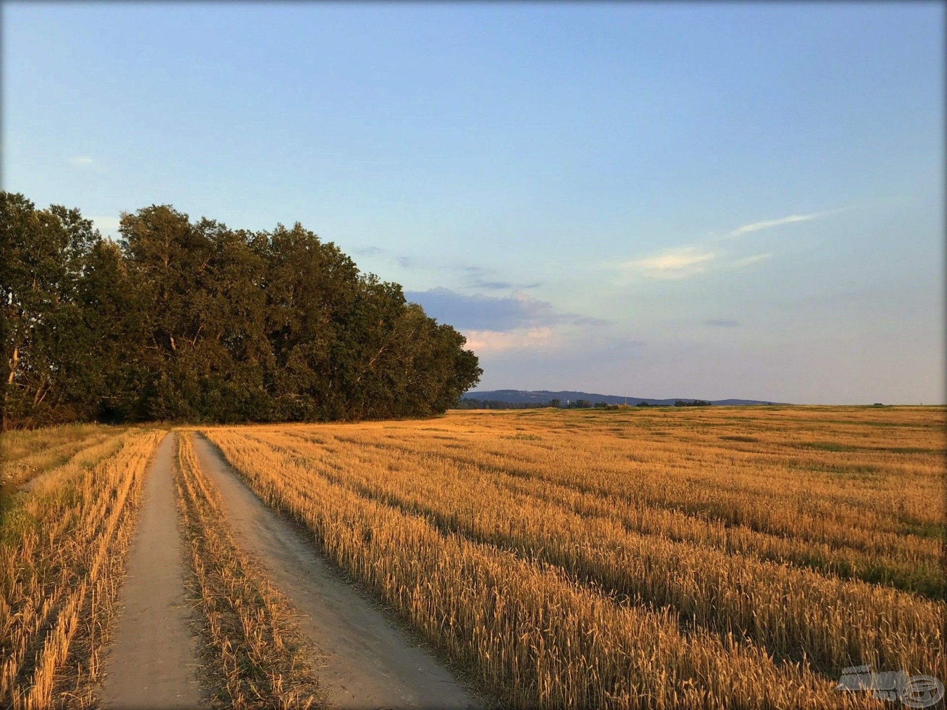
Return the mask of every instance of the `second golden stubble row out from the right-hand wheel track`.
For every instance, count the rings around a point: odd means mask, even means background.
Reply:
[[[471,468],[437,469],[371,447],[320,455],[317,445],[280,433],[246,435],[304,462],[315,475],[439,529],[544,560],[609,593],[670,606],[723,635],[745,634],[779,656],[805,656],[830,674],[860,663],[921,672],[943,660],[943,605],[937,602],[637,535],[615,521],[514,494]]]

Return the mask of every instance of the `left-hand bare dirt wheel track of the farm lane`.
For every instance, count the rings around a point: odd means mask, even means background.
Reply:
[[[188,626],[184,559],[174,505],[174,435],[158,446],[145,482],[138,529],[112,648],[105,660],[104,707],[194,708],[202,704],[196,643]]]

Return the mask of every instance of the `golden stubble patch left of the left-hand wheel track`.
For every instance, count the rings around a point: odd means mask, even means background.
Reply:
[[[95,705],[144,472],[163,435],[106,435],[0,511],[0,706]]]

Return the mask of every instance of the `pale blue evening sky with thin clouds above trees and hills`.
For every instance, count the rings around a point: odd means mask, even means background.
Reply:
[[[3,6],[3,182],[302,222],[481,389],[942,402],[944,9]]]

